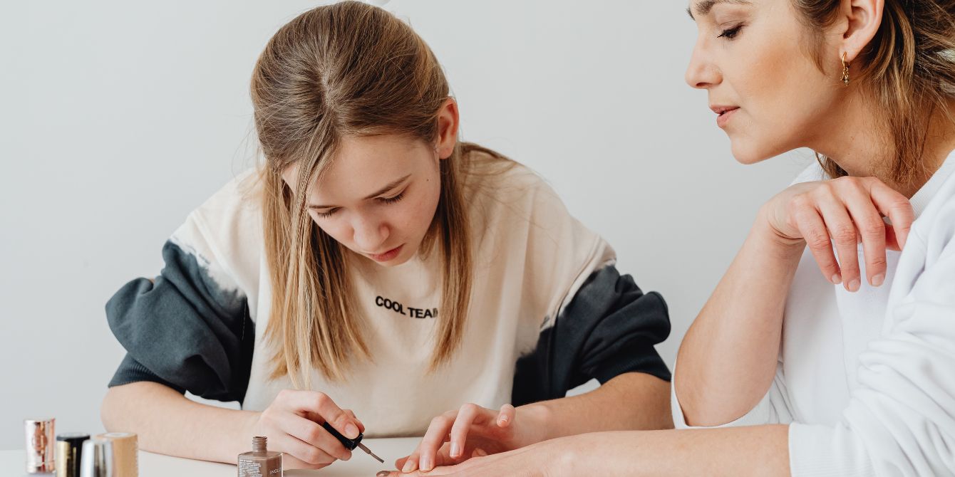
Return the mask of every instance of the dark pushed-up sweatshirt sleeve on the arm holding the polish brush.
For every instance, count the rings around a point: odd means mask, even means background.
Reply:
[[[110,386],[151,381],[205,399],[243,401],[252,369],[255,325],[245,297],[223,290],[208,262],[172,241],[155,283],[126,283],[106,317],[127,355]]]

